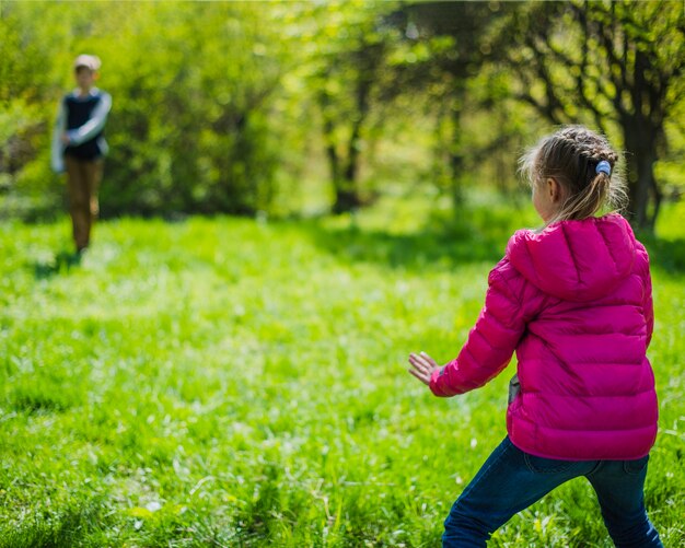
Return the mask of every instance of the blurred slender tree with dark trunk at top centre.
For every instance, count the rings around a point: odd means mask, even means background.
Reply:
[[[362,1],[300,7],[312,26],[306,80],[322,117],[325,155],[335,198],[333,211],[361,206],[360,163],[374,95],[396,32],[383,15],[394,3]]]

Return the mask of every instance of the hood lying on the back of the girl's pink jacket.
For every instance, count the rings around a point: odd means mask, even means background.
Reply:
[[[507,245],[507,258],[527,281],[578,302],[608,293],[630,273],[635,255],[632,229],[616,213],[560,221],[542,232],[521,230]]]

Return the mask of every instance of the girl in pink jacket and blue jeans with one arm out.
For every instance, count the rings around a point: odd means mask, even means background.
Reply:
[[[581,126],[542,139],[522,167],[545,228],[511,237],[455,360],[440,368],[425,352],[409,357],[409,372],[436,396],[454,396],[516,353],[508,436],[452,506],[445,547],[486,546],[511,516],[578,476],[594,488],[616,546],[662,546],[642,493],[658,417],[649,258],[623,217],[594,217],[625,197],[612,175],[617,160]]]

